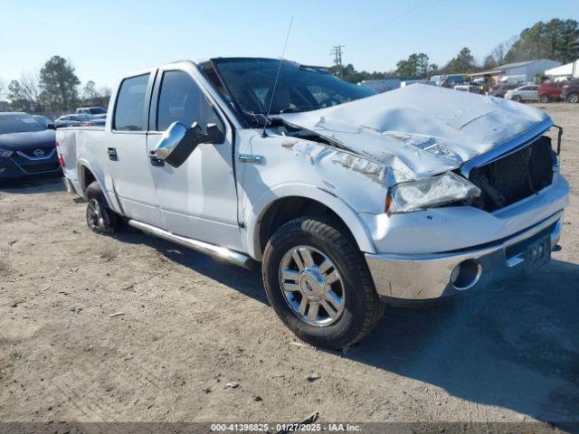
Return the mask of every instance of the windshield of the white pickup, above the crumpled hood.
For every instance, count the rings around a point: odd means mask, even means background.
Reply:
[[[339,80],[319,68],[282,61],[273,99],[271,93],[280,61],[274,59],[214,59],[226,92],[244,114],[309,111],[375,95],[375,90]]]

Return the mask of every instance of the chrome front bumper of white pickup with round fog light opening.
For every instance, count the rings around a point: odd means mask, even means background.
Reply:
[[[548,236],[549,247],[553,249],[561,236],[562,225],[563,211],[559,211],[524,231],[488,245],[439,253],[366,253],[365,259],[382,298],[425,300],[456,296],[479,291],[530,269],[529,245]],[[460,263],[474,267],[472,281],[452,284],[452,271]]]

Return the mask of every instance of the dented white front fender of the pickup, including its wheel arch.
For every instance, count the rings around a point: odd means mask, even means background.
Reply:
[[[259,163],[238,164],[242,222],[252,258],[261,259],[263,215],[284,197],[303,197],[326,205],[346,223],[360,250],[374,252],[359,212],[384,212],[384,165],[335,146],[268,133],[267,137],[258,134],[241,141],[247,146],[239,151],[244,158],[261,157]]]

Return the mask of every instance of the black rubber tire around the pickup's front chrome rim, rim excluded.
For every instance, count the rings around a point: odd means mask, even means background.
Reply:
[[[301,217],[287,222],[271,236],[262,263],[265,290],[281,321],[300,339],[329,348],[355,344],[380,322],[384,313],[384,304],[376,294],[362,254],[354,241],[340,231],[340,226],[318,217]],[[338,285],[343,287],[343,310],[329,325],[308,324],[292,310],[284,296],[280,283],[281,260],[298,246],[308,246],[323,253],[341,278]]]

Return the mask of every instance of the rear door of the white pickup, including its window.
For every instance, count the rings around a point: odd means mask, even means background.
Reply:
[[[155,71],[123,80],[110,117],[105,152],[109,170],[127,217],[162,226],[147,154],[147,120]]]

